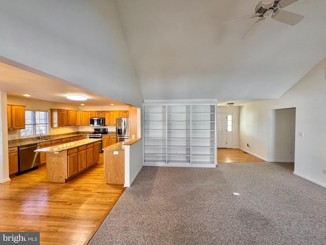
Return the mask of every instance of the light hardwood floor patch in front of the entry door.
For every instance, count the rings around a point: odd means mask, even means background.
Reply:
[[[218,148],[218,163],[226,162],[264,162],[264,160],[239,149]]]

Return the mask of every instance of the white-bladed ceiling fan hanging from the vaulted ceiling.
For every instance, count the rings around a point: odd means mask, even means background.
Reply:
[[[285,10],[281,10],[281,9],[283,9],[297,1],[298,0],[280,0],[280,1],[261,0],[261,2],[259,2],[257,4],[254,14],[227,20],[227,21],[222,22],[221,24],[224,24],[224,23],[227,23],[230,21],[237,21],[237,20],[258,17],[259,19],[253,24],[253,26],[248,30],[248,32],[243,35],[241,40],[250,37],[267,17],[270,17],[271,19],[275,19],[277,21],[283,22],[285,24],[289,24],[290,26],[294,26],[295,24],[297,24],[301,20],[303,20],[303,18],[305,16],[300,15],[300,14],[295,14],[292,12],[288,12]]]

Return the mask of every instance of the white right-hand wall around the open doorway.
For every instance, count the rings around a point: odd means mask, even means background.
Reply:
[[[267,159],[269,110],[296,108],[294,173],[326,187],[326,59],[295,84],[280,99],[259,101],[239,110],[239,148]],[[303,132],[304,137],[298,137]],[[250,148],[247,147],[250,143]]]

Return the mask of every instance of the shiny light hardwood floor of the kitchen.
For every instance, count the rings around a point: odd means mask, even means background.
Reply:
[[[42,245],[87,244],[123,193],[104,180],[103,154],[64,184],[49,183],[42,166],[0,184],[0,231],[40,232]]]

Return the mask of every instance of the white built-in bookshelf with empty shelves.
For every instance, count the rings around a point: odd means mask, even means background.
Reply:
[[[144,104],[144,165],[215,167],[216,104]]]

